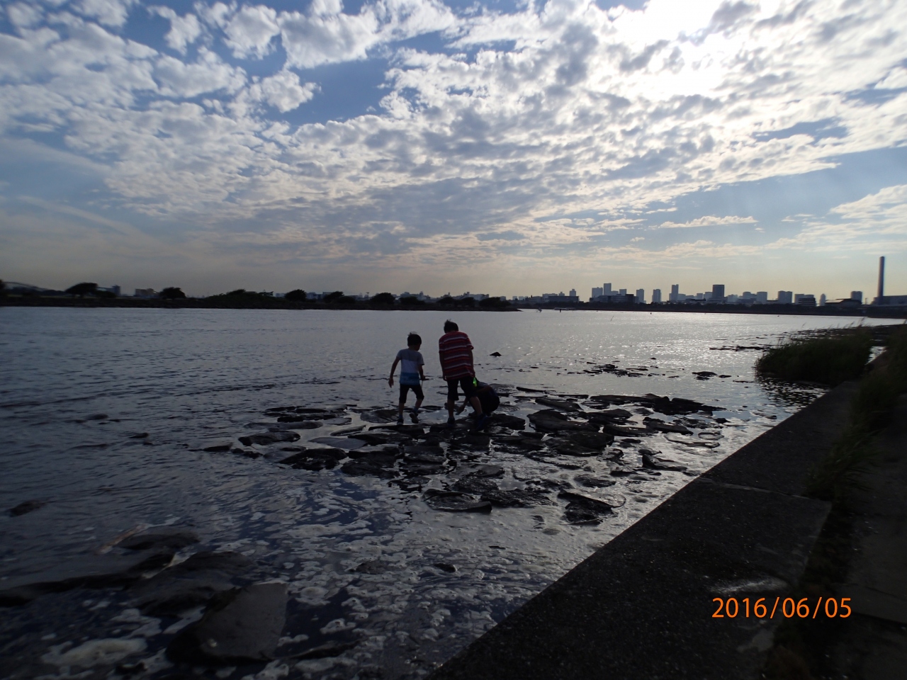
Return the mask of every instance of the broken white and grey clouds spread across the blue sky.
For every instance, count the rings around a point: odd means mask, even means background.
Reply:
[[[5,15],[0,134],[102,165],[103,190],[69,200],[174,226],[200,248],[355,262],[380,244],[369,257],[432,267],[749,256],[820,236],[823,248],[903,248],[902,186],[801,215],[760,243],[711,236],[755,227],[747,212],[639,223],[690,192],[907,141],[907,4],[896,0],[549,0],[508,12],[379,0],[356,13],[339,0],[294,11],[35,0]],[[363,94],[374,111],[295,117],[327,96],[319,79],[344,77],[328,67],[368,63],[384,73]],[[551,216],[562,219],[540,228]],[[697,227],[715,231],[687,242]],[[671,236],[629,246],[637,228]],[[622,246],[604,236],[617,231]]]

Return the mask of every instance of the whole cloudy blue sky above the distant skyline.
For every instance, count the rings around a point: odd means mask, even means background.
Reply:
[[[902,0],[0,4],[0,278],[907,294]]]

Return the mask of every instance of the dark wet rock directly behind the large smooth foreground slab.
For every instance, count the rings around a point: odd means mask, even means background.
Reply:
[[[175,617],[203,605],[217,593],[234,588],[234,578],[253,563],[236,552],[197,552],[130,588],[133,602],[144,614]]]

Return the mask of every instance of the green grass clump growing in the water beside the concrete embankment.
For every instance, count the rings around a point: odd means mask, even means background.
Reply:
[[[775,380],[834,387],[863,373],[872,347],[873,335],[864,328],[790,337],[759,357],[756,374]]]

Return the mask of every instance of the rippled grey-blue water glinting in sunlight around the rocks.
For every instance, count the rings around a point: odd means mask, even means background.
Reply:
[[[386,678],[419,677],[817,393],[766,391],[754,382],[756,351],[720,347],[766,345],[797,330],[849,322],[639,312],[454,315],[473,340],[479,377],[510,387],[506,413],[525,417],[544,408],[532,401],[541,395],[534,391],[684,397],[719,408],[694,423],[717,448],[690,446],[682,443],[690,438],[669,433],[622,444],[621,461],[533,458],[496,443],[491,451],[448,447],[444,470],[418,488],[349,476],[339,467],[288,469],[277,464],[289,455],[280,444],[244,447],[266,453],[256,459],[201,451],[262,431],[246,425],[273,423],[264,412],[281,406],[343,411],[333,424],[298,431],[302,440],[293,445],[374,425],[360,413],[394,405],[396,387],[386,378],[409,331],[424,338],[425,373],[432,378],[425,405],[440,406],[445,392],[436,341],[446,316],[0,308],[0,507],[47,503],[0,519],[0,588],[92,554],[138,525],[189,527],[205,548],[253,559],[256,580],[288,582],[285,635],[297,640],[285,648],[356,642],[339,656],[278,660],[217,677],[352,678],[375,676],[368,675],[375,668]],[[635,369],[635,376],[585,372],[601,364]],[[702,380],[694,375],[699,371],[727,377]],[[445,418],[426,413],[423,421]],[[634,413],[637,424],[642,418]],[[147,436],[133,438],[142,433]],[[687,470],[610,477],[616,466],[638,466],[642,446]],[[566,501],[556,496],[551,505],[490,514],[425,504],[425,489],[442,489],[479,463],[505,470],[502,489],[553,481],[625,502],[600,524],[581,526],[564,520]],[[580,475],[616,483],[581,488]],[[145,660],[133,676],[167,675],[162,648],[171,635],[161,630],[174,621],[137,616],[129,599],[128,593],[76,591],[46,596],[40,607],[6,610],[0,648],[17,660],[4,674],[63,676],[71,669],[55,659],[67,643],[130,638],[141,645],[133,645],[129,660]]]

